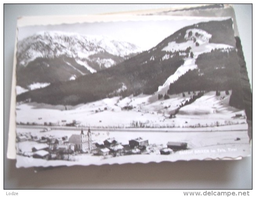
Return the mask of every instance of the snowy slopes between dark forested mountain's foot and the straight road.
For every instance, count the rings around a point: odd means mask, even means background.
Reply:
[[[231,92],[231,91],[230,91]],[[80,104],[65,110],[60,106],[50,108],[48,105],[36,103],[23,103],[17,106],[16,122],[35,122],[44,124],[49,122],[55,125],[81,122],[82,125],[98,128],[127,128],[134,126],[136,122],[144,127],[152,128],[204,128],[205,130],[222,130],[220,126],[228,125],[232,130],[234,125],[247,129],[246,117],[243,111],[228,105],[230,95],[221,92],[207,92],[190,105],[180,108],[176,117],[170,118],[182,103],[188,100],[185,93],[171,95],[169,99],[151,100],[149,95],[129,96],[126,98],[106,98],[87,104]],[[197,94],[197,92],[196,92]],[[230,93],[231,94],[231,93]],[[224,99],[223,96],[225,97]],[[40,107],[38,107],[40,106]],[[125,109],[130,106],[130,109]],[[241,114],[235,118],[236,114]],[[229,128],[225,128],[229,130]]]

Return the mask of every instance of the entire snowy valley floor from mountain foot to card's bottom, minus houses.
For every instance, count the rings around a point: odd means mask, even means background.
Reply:
[[[192,94],[192,93],[191,93]],[[197,94],[197,92],[196,92]],[[221,92],[206,92],[192,104],[179,109],[175,117],[170,118],[181,103],[191,95],[183,97],[171,95],[169,99],[158,100],[157,95],[139,95],[126,98],[106,98],[77,106],[52,106],[38,103],[23,103],[16,106],[16,121],[30,126],[17,126],[17,134],[31,133],[42,136],[68,138],[91,128],[93,142],[102,143],[107,138],[115,138],[122,145],[129,140],[141,137],[149,141],[148,154],[118,157],[93,156],[93,154],[71,155],[71,161],[42,160],[17,155],[17,167],[47,167],[59,165],[101,165],[114,163],[148,163],[178,160],[219,160],[238,159],[249,156],[250,145],[247,135],[248,125],[243,110],[229,106],[229,95]],[[224,98],[223,98],[224,97]],[[124,108],[130,106],[129,110]],[[65,107],[67,110],[65,110]],[[65,124],[79,122],[74,127]],[[52,126],[49,126],[51,122]],[[40,132],[46,126],[49,131]],[[37,125],[39,124],[39,125]],[[185,142],[188,149],[170,155],[160,155],[160,149],[167,142]],[[18,142],[20,153],[31,153],[37,142]]]

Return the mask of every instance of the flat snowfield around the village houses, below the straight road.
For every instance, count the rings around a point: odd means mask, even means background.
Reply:
[[[70,137],[79,134],[79,130],[51,130],[40,132],[41,129],[17,128],[17,133],[28,133],[42,137],[52,135],[54,137]],[[134,132],[134,131],[101,131],[92,129],[93,142],[103,142],[107,138],[114,137],[122,145],[128,144],[129,140],[142,137],[149,140],[149,145],[155,147],[150,154],[139,154],[119,157],[104,158],[92,154],[78,154],[71,156],[73,161],[42,160],[17,155],[17,167],[33,166],[57,166],[57,165],[101,165],[113,163],[147,163],[177,160],[209,160],[209,159],[238,159],[249,156],[250,146],[247,131],[212,131],[212,132]],[[237,140],[240,138],[240,140]],[[160,155],[160,149],[167,147],[169,141],[187,142],[188,150],[177,151],[170,155]],[[36,142],[18,142],[17,147],[22,151],[31,151]]]

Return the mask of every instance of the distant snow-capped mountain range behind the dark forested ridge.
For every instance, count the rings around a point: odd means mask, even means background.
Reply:
[[[65,32],[38,32],[18,42],[18,85],[52,83],[74,79],[114,66],[140,52],[140,48],[124,41],[103,36],[80,35]],[[40,77],[29,81],[27,72]],[[43,71],[43,72],[42,72]],[[49,76],[49,73],[54,75]],[[62,73],[62,76],[59,76]]]

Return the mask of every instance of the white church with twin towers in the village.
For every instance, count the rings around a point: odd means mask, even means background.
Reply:
[[[84,134],[84,130],[82,129],[80,135],[71,135],[69,143],[74,144],[74,151],[81,151],[83,153],[91,151],[92,139],[90,128],[88,129],[87,134]]]

